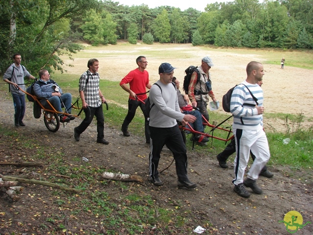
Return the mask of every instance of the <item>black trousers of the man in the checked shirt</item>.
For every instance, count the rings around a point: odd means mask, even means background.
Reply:
[[[84,109],[86,118],[80,123],[80,125],[76,128],[76,131],[78,134],[82,134],[87,127],[90,125],[93,116],[96,116],[97,119],[97,140],[102,140],[104,138],[104,115],[103,115],[103,108],[102,104],[97,107],[90,107],[90,113],[89,109]]]

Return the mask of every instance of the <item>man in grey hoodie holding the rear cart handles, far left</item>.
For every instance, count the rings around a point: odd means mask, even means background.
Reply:
[[[24,66],[21,65],[21,54],[16,53],[13,55],[14,63],[5,71],[3,81],[9,84],[9,90],[13,97],[13,104],[15,109],[14,124],[15,126],[25,126],[23,118],[25,115],[25,94],[20,91],[26,91],[24,85],[24,77],[35,79]]]

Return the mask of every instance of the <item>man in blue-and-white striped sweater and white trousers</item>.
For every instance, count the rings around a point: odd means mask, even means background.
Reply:
[[[263,90],[257,84],[263,79],[263,65],[251,61],[246,67],[246,74],[246,80],[235,87],[230,99],[236,142],[235,179],[232,182],[235,185],[234,191],[242,197],[250,196],[246,187],[251,188],[256,194],[262,194],[262,189],[256,185],[256,180],[270,157],[268,139],[262,126]],[[250,150],[255,154],[256,159],[244,180]]]

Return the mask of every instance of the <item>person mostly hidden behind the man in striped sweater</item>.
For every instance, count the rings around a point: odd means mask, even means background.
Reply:
[[[259,81],[257,82],[257,84],[261,87],[263,84],[263,81]],[[219,153],[216,156],[217,160],[219,161],[219,165],[222,168],[228,168],[226,161],[229,158],[229,156],[235,152],[236,152],[236,143],[235,143],[235,139],[233,138],[230,140],[230,143],[227,144],[224,151]],[[252,160],[254,161],[255,155],[251,151],[250,151],[250,155],[251,155]],[[259,175],[262,175],[267,178],[272,178],[274,176],[274,174],[268,170],[268,167],[266,165],[262,168]]]

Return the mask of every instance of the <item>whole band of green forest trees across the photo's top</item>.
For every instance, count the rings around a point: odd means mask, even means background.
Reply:
[[[0,71],[22,54],[28,71],[63,72],[60,55],[92,45],[192,43],[218,47],[313,48],[313,0],[235,0],[207,4],[204,12],[171,6],[123,5],[112,0],[0,2]]]

